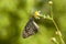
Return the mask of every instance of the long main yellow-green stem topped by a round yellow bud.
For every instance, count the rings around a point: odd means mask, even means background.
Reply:
[[[62,37],[62,33],[61,33],[61,31],[59,31],[59,29],[58,29],[55,20],[53,19],[52,4],[53,4],[53,2],[50,1],[50,14],[51,14],[52,21],[53,21],[53,23],[54,23],[54,25],[55,25],[55,28],[56,28],[56,30],[57,30],[57,34],[58,34],[58,36],[59,36],[61,43],[62,43],[62,44],[65,44],[65,42],[64,42],[64,40],[63,40],[63,37]]]

